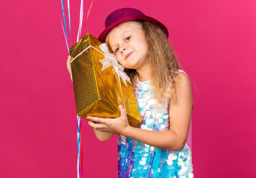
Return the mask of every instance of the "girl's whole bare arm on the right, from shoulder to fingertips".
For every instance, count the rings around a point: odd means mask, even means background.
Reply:
[[[126,111],[120,107],[121,116],[116,119],[102,119],[88,117],[97,124],[90,122],[89,125],[103,132],[113,132],[126,137],[139,140],[147,145],[180,151],[186,144],[193,106],[191,83],[186,74],[180,72],[176,77],[175,99],[170,102],[169,118],[170,130],[150,131],[128,125]]]

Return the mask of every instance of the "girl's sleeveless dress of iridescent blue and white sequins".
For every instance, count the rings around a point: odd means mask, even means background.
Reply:
[[[181,70],[180,70],[181,71]],[[162,131],[170,129],[168,104],[154,109],[150,80],[134,84],[134,92],[141,116],[137,127]],[[146,145],[132,138],[118,137],[118,175],[120,178],[193,178],[190,147],[171,151]]]

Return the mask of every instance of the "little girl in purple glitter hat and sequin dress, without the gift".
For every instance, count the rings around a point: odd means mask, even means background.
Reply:
[[[168,30],[133,8],[110,13],[105,25],[99,40],[129,69],[141,124],[131,127],[121,105],[119,118],[87,117],[97,122],[88,124],[100,141],[119,134],[119,177],[193,178],[186,142],[193,108],[191,83],[180,70]]]

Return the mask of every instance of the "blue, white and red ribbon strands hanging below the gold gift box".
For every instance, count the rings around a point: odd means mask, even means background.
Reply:
[[[77,178],[83,178],[83,142],[82,142],[82,122],[81,117],[77,116]]]

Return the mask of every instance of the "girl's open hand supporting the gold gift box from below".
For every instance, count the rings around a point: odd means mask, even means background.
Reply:
[[[90,119],[94,122],[88,121],[88,124],[96,130],[114,133],[120,135],[126,135],[130,131],[130,125],[127,120],[126,110],[122,105],[119,106],[121,111],[121,116],[119,118],[110,119],[110,118],[97,118],[88,116],[87,119]]]

